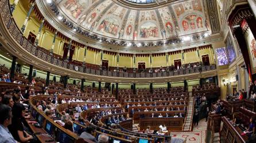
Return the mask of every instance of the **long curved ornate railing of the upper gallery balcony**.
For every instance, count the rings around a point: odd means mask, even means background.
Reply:
[[[15,41],[17,41],[24,49],[29,51],[29,53],[33,54],[34,56],[52,63],[53,65],[63,67],[65,69],[75,70],[77,72],[87,73],[87,74],[94,74],[98,76],[108,76],[108,77],[122,77],[122,78],[157,78],[157,77],[171,77],[171,76],[180,76],[184,74],[193,74],[193,73],[201,73],[207,72],[210,70],[215,70],[216,65],[210,66],[201,66],[195,67],[191,69],[181,69],[181,70],[174,70],[168,72],[159,72],[159,73],[119,73],[119,72],[110,72],[105,70],[96,70],[96,69],[88,69],[84,66],[73,65],[72,63],[68,63],[53,55],[46,53],[41,48],[33,45],[24,35],[21,33],[20,29],[16,25],[14,19],[11,17],[9,3],[8,1],[0,1],[0,8],[1,8],[1,16],[2,19],[9,30],[10,34],[13,36]]]

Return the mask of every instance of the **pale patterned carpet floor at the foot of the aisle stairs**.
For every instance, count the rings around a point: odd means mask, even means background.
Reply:
[[[170,136],[172,136],[172,143],[179,143],[179,139],[185,140],[187,138],[187,142],[189,143],[199,143],[205,142],[206,137],[206,129],[207,122],[205,119],[199,121],[198,126],[195,125],[193,128],[193,132],[171,132]]]

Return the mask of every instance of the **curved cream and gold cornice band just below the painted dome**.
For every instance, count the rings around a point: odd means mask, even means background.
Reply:
[[[187,41],[187,42],[184,41],[184,42],[178,42],[178,43],[173,42],[173,44],[169,44],[169,45],[164,44],[161,46],[133,47],[133,46],[120,46],[120,45],[108,44],[92,38],[88,38],[82,34],[79,34],[73,31],[73,29],[65,25],[63,22],[61,22],[57,18],[56,14],[52,12],[49,6],[46,6],[47,3],[45,1],[37,0],[36,2],[38,4],[37,5],[38,9],[42,13],[42,15],[44,15],[46,21],[50,25],[52,25],[57,31],[73,39],[74,41],[83,43],[84,45],[95,47],[96,49],[102,49],[102,50],[119,52],[119,53],[137,53],[137,54],[165,53],[168,51],[175,51],[175,50],[187,49],[187,48],[196,47],[196,46],[208,45],[208,44],[211,44],[212,42],[222,40],[220,35],[215,34],[215,35],[211,35],[210,37],[194,39],[193,41]],[[123,23],[123,25],[125,24]],[[200,34],[203,34],[203,33],[196,33],[196,35],[200,35]],[[152,41],[152,42],[157,42],[157,41]]]

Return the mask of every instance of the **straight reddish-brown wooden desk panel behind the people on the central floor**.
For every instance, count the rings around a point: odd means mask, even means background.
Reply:
[[[166,125],[167,130],[181,131],[183,127],[183,117],[176,118],[140,118],[139,126],[141,129],[147,129],[147,126],[151,126],[153,129],[160,129],[160,125]]]

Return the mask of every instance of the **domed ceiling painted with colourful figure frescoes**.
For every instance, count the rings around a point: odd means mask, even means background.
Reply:
[[[202,0],[55,0],[82,29],[125,41],[157,41],[209,31]],[[127,4],[128,3],[128,4]],[[129,4],[130,3],[130,4]],[[150,8],[139,6],[154,5]]]

